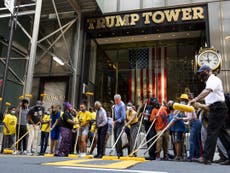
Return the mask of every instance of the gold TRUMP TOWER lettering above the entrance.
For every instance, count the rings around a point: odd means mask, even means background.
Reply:
[[[178,22],[189,20],[202,20],[205,18],[204,7],[178,8],[169,10],[147,11],[114,16],[104,16],[87,19],[88,29],[102,29],[124,26],[161,24],[164,22]],[[140,20],[140,18],[142,18]]]

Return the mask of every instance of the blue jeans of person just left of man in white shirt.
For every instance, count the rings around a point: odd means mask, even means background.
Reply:
[[[190,123],[190,137],[189,137],[189,158],[200,157],[200,147],[201,147],[201,122],[200,120],[194,120]]]

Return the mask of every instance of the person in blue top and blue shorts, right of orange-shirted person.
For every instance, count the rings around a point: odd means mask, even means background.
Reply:
[[[174,122],[169,128],[169,131],[171,132],[173,145],[175,146],[175,151],[176,151],[175,160],[181,161],[182,160],[182,142],[183,142],[184,133],[186,131],[186,127],[185,127],[184,121],[180,119],[183,117],[183,114],[181,113],[177,114],[177,111],[173,110],[172,101],[171,103],[168,103],[168,109],[170,110],[170,114],[168,117],[168,123],[170,123],[171,121],[174,121]]]

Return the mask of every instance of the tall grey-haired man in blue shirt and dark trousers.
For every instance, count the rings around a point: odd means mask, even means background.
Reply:
[[[114,102],[115,105],[113,107],[114,109],[113,128],[114,128],[114,140],[116,141],[124,127],[124,122],[126,119],[126,106],[124,102],[121,100],[121,96],[119,94],[116,94],[114,96]],[[123,156],[121,137],[116,144],[116,152],[118,157]]]

